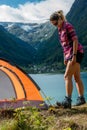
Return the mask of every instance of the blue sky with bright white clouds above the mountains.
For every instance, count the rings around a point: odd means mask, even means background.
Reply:
[[[41,23],[57,10],[66,15],[75,0],[0,0],[0,22]]]

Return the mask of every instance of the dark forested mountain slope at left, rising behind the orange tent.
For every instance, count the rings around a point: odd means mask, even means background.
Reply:
[[[26,66],[33,63],[34,55],[35,49],[31,45],[8,33],[0,25],[0,58]]]

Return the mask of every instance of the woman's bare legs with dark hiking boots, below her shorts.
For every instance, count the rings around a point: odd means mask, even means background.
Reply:
[[[71,96],[73,90],[72,76],[74,75],[76,81],[76,87],[80,97],[77,100],[76,105],[81,105],[85,103],[85,98],[83,97],[84,86],[80,78],[80,65],[79,63],[72,64],[71,61],[68,61],[64,79],[66,87],[66,97],[62,102],[64,108],[71,108]]]

